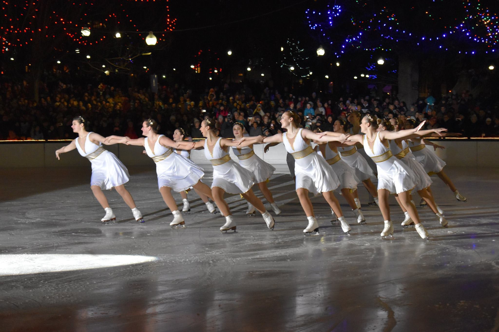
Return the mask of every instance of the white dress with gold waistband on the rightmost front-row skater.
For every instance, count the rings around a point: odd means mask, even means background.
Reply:
[[[376,133],[372,149],[366,135],[362,135],[362,141],[364,150],[378,169],[378,190],[386,189],[391,194],[400,194],[416,187],[418,184],[416,174],[392,154],[390,147],[381,143],[379,132]]]

